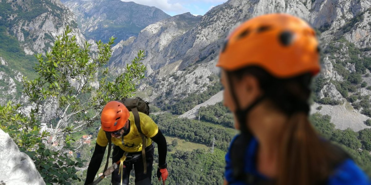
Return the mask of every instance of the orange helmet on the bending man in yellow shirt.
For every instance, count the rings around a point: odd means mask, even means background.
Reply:
[[[118,101],[108,102],[101,115],[101,124],[104,131],[113,132],[125,126],[129,118],[129,111],[124,104]]]

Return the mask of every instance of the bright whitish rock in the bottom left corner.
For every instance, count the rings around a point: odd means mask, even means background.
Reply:
[[[32,159],[20,152],[9,134],[0,129],[0,181],[6,185],[45,185]]]

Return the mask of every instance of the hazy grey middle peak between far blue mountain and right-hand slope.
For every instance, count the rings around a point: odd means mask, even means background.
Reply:
[[[147,69],[150,71],[172,63],[169,62],[169,60],[173,60],[171,56],[164,55],[168,52],[177,52],[179,48],[169,48],[168,46],[185,34],[200,19],[200,16],[184,13],[147,26],[139,33],[138,37],[131,37],[127,41],[121,41],[119,46],[115,46],[111,58],[112,64],[125,66],[137,55],[138,50],[143,49],[147,52],[147,56],[142,62],[147,65]],[[187,42],[183,42],[183,44],[187,44]],[[147,74],[150,73],[147,72]]]

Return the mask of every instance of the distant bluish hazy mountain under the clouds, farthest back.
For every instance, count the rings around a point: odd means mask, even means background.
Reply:
[[[120,0],[63,1],[78,17],[78,24],[88,39],[118,41],[137,36],[139,31],[171,16],[156,7]]]

